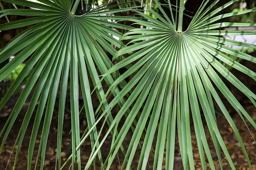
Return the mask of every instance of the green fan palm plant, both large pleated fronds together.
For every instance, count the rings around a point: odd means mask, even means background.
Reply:
[[[124,8],[119,8],[120,3],[113,1],[79,16],[75,15],[75,12],[81,0],[76,0],[74,3],[73,0],[1,1],[29,8],[4,9],[0,11],[0,17],[32,16],[0,25],[0,31],[31,26],[0,51],[0,62],[17,54],[0,69],[0,81],[25,60],[27,61],[1,99],[0,110],[29,74],[25,88],[0,133],[2,139],[0,152],[24,103],[29,94],[32,94],[15,142],[17,147],[13,150],[16,152],[13,169],[30,123],[33,123],[33,130],[28,147],[27,169],[33,168],[32,158],[40,122],[43,122],[43,128],[36,163],[41,159],[40,167],[44,168],[47,139],[58,91],[60,95],[56,136],[58,169],[63,168],[68,161],[71,162],[72,169],[87,170],[92,166],[96,168],[96,160],[99,161],[100,168],[110,169],[113,161],[122,154],[124,159],[120,162],[121,169],[129,170],[131,164],[135,162],[137,169],[146,170],[149,168],[148,158],[152,154],[153,170],[161,170],[163,164],[166,170],[172,170],[177,133],[183,168],[194,170],[190,130],[193,125],[202,169],[207,169],[208,162],[209,167],[215,170],[216,165],[203,125],[205,119],[220,168],[223,169],[221,156],[225,156],[230,168],[235,170],[236,167],[217,126],[216,107],[220,108],[229,122],[249,168],[253,169],[239,129],[221,98],[224,96],[227,99],[244,123],[247,119],[256,128],[256,123],[227,88],[224,79],[247,96],[255,107],[256,94],[223,65],[225,63],[241,71],[248,79],[256,81],[254,71],[229,56],[247,60],[252,65],[255,65],[256,58],[226,46],[256,49],[256,45],[222,37],[255,35],[256,31],[223,30],[224,27],[256,26],[252,23],[223,21],[227,17],[246,14],[255,9],[223,14],[222,10],[236,3],[237,0],[229,0],[218,8],[215,8],[215,5],[219,0],[212,3],[203,0],[188,28],[183,30],[183,0],[175,4],[170,0],[166,4],[160,4],[157,0],[146,1],[142,2],[142,5],[139,2],[138,6],[130,5]],[[151,8],[151,3],[158,7],[159,13]],[[168,13],[164,10],[166,8],[169,10]],[[116,15],[125,11],[134,14],[127,17]],[[150,15],[145,14],[146,11]],[[127,21],[132,24],[127,25]],[[112,61],[107,54],[111,55]],[[125,72],[119,72],[121,68],[125,68]],[[130,76],[132,78],[126,81]],[[90,88],[90,79],[93,82],[93,89]],[[108,85],[107,91],[103,91],[103,80]],[[72,153],[62,164],[61,139],[68,87],[70,87]],[[79,119],[82,119],[81,116],[79,117],[79,88],[81,88],[87,120],[87,130],[82,136],[79,126]],[[100,102],[96,111],[93,110],[92,92],[96,93]],[[113,95],[111,101],[108,100],[110,94]],[[116,105],[119,105],[120,109],[118,113],[113,114]],[[35,114],[33,120],[32,114]],[[106,133],[102,133],[105,124],[108,129]],[[132,131],[132,136],[128,147],[124,148],[123,141],[129,131]],[[102,158],[101,148],[108,136],[112,137],[110,150],[108,156]],[[91,148],[88,149],[90,157],[86,166],[81,167],[80,148],[88,138],[91,143]],[[154,141],[156,144],[153,144]],[[134,155],[138,154],[138,148],[140,156],[135,160]]]

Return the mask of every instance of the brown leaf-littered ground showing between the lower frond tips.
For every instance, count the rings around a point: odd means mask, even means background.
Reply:
[[[245,109],[250,113],[250,115],[253,117],[254,120],[256,120],[256,108],[253,105],[246,105],[244,106]],[[9,156],[10,153],[12,152],[12,147],[14,146],[16,137],[17,137],[17,133],[20,130],[20,126],[21,123],[23,121],[23,117],[24,117],[24,112],[21,112],[19,114],[19,116],[17,117],[17,123],[14,124],[14,126],[12,127],[12,130],[7,138],[6,144],[3,148],[3,151],[0,155],[0,170],[4,170],[6,168],[6,164],[9,160]],[[247,149],[247,152],[249,154],[249,158],[250,161],[252,163],[253,169],[256,169],[256,143],[253,140],[253,137],[250,135],[250,133],[247,130],[246,125],[244,124],[244,122],[241,120],[240,116],[238,114],[233,114],[233,121],[235,122],[236,126],[239,129],[239,133],[241,134],[241,138],[243,139],[244,145]],[[33,117],[32,117],[32,120]],[[2,129],[4,122],[6,122],[5,119],[1,118],[0,120],[0,129]],[[232,128],[230,127],[230,125],[228,124],[227,120],[225,119],[224,116],[221,115],[217,115],[217,122],[218,122],[218,127],[221,133],[221,136],[224,139],[224,142],[226,144],[226,147],[230,153],[231,158],[234,161],[234,164],[236,166],[237,170],[247,170],[249,169],[248,165],[247,165],[247,161],[243,155],[243,151],[241,150],[241,147],[239,145],[239,142],[235,136],[235,134],[233,133]],[[247,121],[246,121],[247,122]],[[211,142],[211,136],[209,134],[209,131],[207,130],[207,125],[206,122],[204,121],[204,125],[205,125],[205,131],[206,131],[206,136],[207,136],[207,140],[209,141],[209,147],[210,150],[212,152],[212,157],[215,163],[215,167],[218,170],[219,169],[219,162],[218,162],[218,158],[217,155],[215,153],[215,149],[214,146]],[[256,129],[253,128],[252,125],[250,125],[250,123],[247,122],[248,128],[250,129],[252,135],[254,137],[256,137]],[[32,131],[32,127],[33,127],[33,121],[29,124],[29,127],[27,129],[26,132],[26,136],[23,140],[23,144],[19,153],[19,157],[17,159],[17,165],[16,165],[16,170],[26,170],[26,164],[27,164],[27,148],[29,146],[29,140],[30,140],[30,135],[31,135],[31,131]],[[51,124],[51,128],[50,128],[50,132],[49,132],[49,138],[48,138],[48,143],[47,143],[47,152],[46,152],[46,158],[45,158],[45,162],[44,162],[44,169],[45,170],[54,170],[55,169],[55,156],[56,156],[56,142],[57,142],[57,127],[58,127],[58,116],[57,116],[57,112],[54,113],[54,116],[52,117],[52,124]],[[64,120],[64,129],[63,129],[63,145],[62,145],[62,153],[61,153],[61,157],[63,161],[66,161],[68,156],[70,155],[70,142],[71,142],[71,135],[70,133],[70,116],[68,113],[66,113],[65,115],[65,120]],[[81,122],[81,134],[83,133],[85,126],[83,125],[83,122]],[[193,151],[194,151],[194,162],[195,162],[195,167],[197,170],[201,170],[201,161],[200,161],[200,156],[198,153],[198,147],[197,147],[197,142],[196,142],[196,136],[195,136],[195,132],[194,132],[194,128],[191,125],[191,136],[192,136],[192,147],[193,147]],[[41,134],[41,133],[38,133]],[[123,145],[125,148],[128,147],[129,145],[129,140],[130,137],[132,135],[132,132],[128,133],[128,137],[125,139],[125,141],[123,142]],[[0,140],[2,141],[2,140]],[[33,157],[33,163],[35,163],[36,160],[36,153],[38,150],[38,146],[39,146],[39,142],[40,142],[40,135],[38,135],[38,139],[36,140],[36,145],[35,145],[35,156]],[[155,143],[156,141],[154,141]],[[109,145],[111,143],[111,137],[109,137],[106,141],[106,144],[104,145],[104,147],[102,147],[101,149],[101,153],[103,158],[108,156],[108,151],[109,151]],[[177,143],[177,136],[176,136],[176,143]],[[83,147],[81,148],[81,162],[82,162],[82,166],[84,167],[89,156],[90,156],[90,141],[86,141],[83,145]],[[122,153],[120,153],[120,162],[122,162]],[[222,154],[223,156],[224,154]],[[137,161],[139,160],[140,157],[140,148],[138,147],[137,153],[135,154],[135,158],[134,158],[134,164],[132,164],[132,169],[137,169]],[[11,159],[9,161],[9,165],[7,167],[7,170],[11,170],[13,163],[14,163],[14,159],[15,159],[15,150],[13,155],[11,156]],[[150,159],[148,161],[148,167],[147,169],[150,170],[153,166],[153,157],[150,156]],[[40,160],[39,160],[40,163]],[[222,163],[223,163],[223,168],[224,170],[229,170],[230,166],[226,160],[226,158],[223,156],[222,157]],[[38,164],[38,168],[39,168]],[[99,168],[99,164],[96,164],[96,167],[98,166],[98,168],[96,169],[100,169]],[[209,164],[207,163],[207,167],[209,168]],[[38,169],[37,168],[37,169]],[[64,169],[69,169],[69,165],[67,165]],[[92,168],[93,169],[93,168]],[[112,164],[111,167],[112,170],[118,170],[120,169],[120,165],[119,162],[117,161],[117,159],[115,160],[115,162]],[[164,165],[163,165],[163,170],[165,169]],[[182,166],[182,161],[181,161],[181,156],[180,156],[180,151],[179,151],[179,147],[175,146],[175,170],[182,170],[183,166]]]

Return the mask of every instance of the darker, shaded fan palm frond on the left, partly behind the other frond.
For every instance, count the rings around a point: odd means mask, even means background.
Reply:
[[[21,143],[29,124],[29,120],[37,105],[37,102],[39,101],[28,150],[28,169],[31,169],[32,155],[37,138],[38,128],[43,117],[44,108],[46,106],[44,125],[37,157],[38,160],[41,155],[41,168],[44,167],[44,156],[46,152],[50,122],[52,119],[59,83],[61,83],[57,144],[58,167],[60,168],[64,108],[67,87],[68,84],[70,84],[72,153],[73,155],[76,155],[72,157],[72,167],[74,168],[74,162],[75,159],[77,159],[78,168],[81,169],[80,151],[76,151],[76,147],[80,142],[78,101],[79,82],[81,83],[81,91],[84,98],[84,107],[86,111],[88,128],[91,129],[93,122],[95,122],[95,115],[93,111],[88,79],[91,78],[93,85],[97,87],[96,94],[99,101],[104,102],[103,110],[105,110],[108,103],[104,97],[105,93],[103,91],[102,84],[99,83],[99,75],[105,74],[108,71],[108,69],[111,67],[111,60],[105,54],[102,47],[105,48],[105,50],[110,54],[114,55],[116,53],[116,49],[113,48],[111,44],[120,48],[120,42],[113,38],[113,35],[120,38],[122,34],[113,28],[126,28],[123,26],[123,24],[117,23],[125,20],[126,17],[115,17],[106,14],[132,10],[133,8],[115,9],[113,7],[116,6],[112,6],[111,8],[113,9],[111,9],[110,7],[103,5],[82,16],[76,16],[73,13],[80,2],[79,0],[76,0],[72,10],[71,4],[73,3],[73,0],[38,0],[39,3],[30,2],[28,0],[3,1],[36,9],[6,9],[0,11],[0,13],[2,13],[0,17],[6,15],[35,16],[29,19],[18,20],[0,25],[0,31],[3,31],[34,24],[17,35],[0,51],[0,62],[3,62],[12,55],[18,53],[17,56],[12,59],[12,61],[10,61],[0,70],[0,81],[2,81],[18,65],[31,56],[27,61],[25,68],[22,70],[20,75],[17,77],[15,82],[13,82],[12,86],[1,100],[0,110],[6,104],[8,99],[11,97],[15,89],[18,87],[18,85],[20,85],[26,75],[32,71],[32,74],[30,75],[24,90],[17,100],[17,103],[13,108],[6,125],[0,133],[0,136],[4,134],[0,151],[3,149],[7,136],[15,123],[15,119],[23,107],[24,102],[31,93],[33,87],[35,87],[26,116],[24,117],[23,124],[15,142],[15,145],[16,143],[18,144],[15,164]],[[117,22],[112,23],[108,22],[107,20],[116,20]],[[100,72],[99,75],[96,68]],[[87,73],[90,75],[87,75]],[[115,74],[108,75],[105,77],[105,82],[111,85],[113,83],[113,77],[115,77]],[[125,85],[125,82],[122,82],[121,84]],[[116,96],[119,93],[118,88],[113,88],[112,93],[114,96]],[[119,105],[122,106],[123,104],[124,100],[120,100]],[[111,114],[109,114],[107,118],[108,124],[110,124],[112,120],[113,118]],[[98,135],[96,127],[93,127],[93,132],[90,133],[90,141],[92,146],[98,146],[98,144],[95,144],[97,137]],[[100,152],[98,153],[98,157],[102,163]]]

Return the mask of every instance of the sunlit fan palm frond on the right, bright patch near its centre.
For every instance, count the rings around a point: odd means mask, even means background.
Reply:
[[[256,24],[249,23],[223,23],[218,22],[220,19],[239,14],[245,14],[255,9],[249,9],[237,13],[221,14],[218,13],[224,8],[232,5],[236,0],[231,0],[229,3],[212,10],[212,7],[218,3],[215,0],[209,7],[206,7],[209,0],[204,0],[200,9],[195,14],[189,28],[182,31],[183,14],[180,12],[175,19],[172,13],[173,9],[170,6],[171,18],[169,18],[163,8],[155,0],[162,16],[157,14],[151,8],[147,8],[152,14],[157,17],[157,20],[138,12],[141,16],[145,17],[148,21],[137,20],[140,24],[148,28],[134,28],[127,33],[120,40],[130,40],[133,45],[127,45],[125,48],[120,49],[113,57],[116,59],[124,54],[134,52],[134,54],[123,59],[114,65],[104,75],[108,75],[124,67],[125,65],[137,61],[128,71],[122,74],[115,82],[114,85],[121,82],[125,77],[133,74],[135,70],[139,70],[125,88],[120,91],[119,96],[109,103],[108,108],[111,109],[119,101],[119,97],[125,96],[128,91],[134,88],[131,96],[125,102],[115,119],[113,120],[108,133],[111,129],[119,123],[125,111],[131,107],[131,112],[125,122],[122,122],[122,129],[119,135],[111,146],[111,151],[106,160],[108,168],[110,167],[128,129],[131,127],[133,120],[137,115],[140,115],[138,124],[134,130],[131,138],[130,145],[125,155],[122,169],[130,169],[134,154],[140,144],[143,129],[146,128],[145,139],[140,153],[137,169],[147,169],[148,157],[153,145],[154,134],[157,129],[157,143],[154,152],[154,169],[161,169],[163,164],[164,153],[166,152],[166,169],[172,170],[174,167],[174,148],[175,148],[175,130],[177,126],[180,153],[183,161],[184,169],[195,169],[193,161],[193,152],[191,144],[191,131],[190,131],[190,113],[192,113],[193,125],[195,127],[195,134],[198,142],[198,150],[202,168],[206,170],[206,153],[207,160],[211,169],[215,169],[209,145],[204,131],[200,107],[204,113],[207,126],[214,143],[216,153],[218,155],[219,163],[221,166],[221,149],[230,164],[231,169],[235,170],[233,161],[225,147],[224,141],[217,127],[217,120],[215,117],[215,110],[213,101],[215,101],[222,113],[233,128],[234,133],[241,145],[244,156],[247,159],[250,169],[250,159],[248,158],[247,151],[239,135],[239,131],[225,108],[220,96],[216,89],[218,89],[225,98],[230,102],[233,108],[244,120],[244,117],[256,127],[256,123],[249,116],[247,111],[239,104],[238,100],[230,92],[224,84],[221,77],[224,77],[233,85],[243,92],[256,106],[256,95],[253,94],[242,82],[239,81],[220,61],[230,65],[245,75],[256,80],[256,73],[244,67],[236,60],[228,56],[234,55],[241,59],[248,60],[256,63],[256,58],[240,51],[236,51],[225,45],[244,46],[256,49],[255,45],[244,42],[237,42],[228,40],[222,35],[255,35],[255,31],[219,31],[215,28],[226,26],[256,26]],[[177,11],[177,9],[176,9]],[[180,11],[183,11],[183,0],[180,0]],[[176,15],[177,16],[177,15]],[[176,28],[177,31],[176,31]],[[221,77],[220,77],[221,75]],[[140,108],[143,108],[140,112]],[[106,111],[102,114],[102,116]],[[148,122],[148,124],[147,124]],[[96,122],[97,123],[97,122]],[[245,123],[245,121],[244,121]],[[159,127],[157,128],[157,125]],[[106,136],[108,135],[106,134]],[[105,136],[105,137],[106,137]],[[102,140],[100,146],[104,142]],[[97,150],[96,150],[97,151]],[[96,156],[95,152],[92,154],[91,160]],[[222,169],[222,166],[221,166]]]

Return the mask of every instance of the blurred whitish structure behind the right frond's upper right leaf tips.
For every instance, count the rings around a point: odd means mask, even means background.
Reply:
[[[228,28],[225,28],[225,30],[256,31],[256,27],[228,27]],[[230,40],[236,40],[236,41],[246,42],[249,44],[256,45],[256,35],[234,35],[234,36],[223,36],[223,37]],[[234,45],[227,45],[227,46],[237,50],[246,49],[246,47],[240,47],[240,46],[234,46]]]

